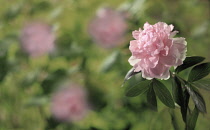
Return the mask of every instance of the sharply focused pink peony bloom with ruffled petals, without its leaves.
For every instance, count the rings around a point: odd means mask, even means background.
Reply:
[[[178,31],[172,31],[173,25],[158,22],[144,24],[144,30],[133,31],[136,40],[130,41],[132,56],[129,63],[135,72],[142,71],[146,79],[168,79],[172,66],[183,64],[186,57],[185,38],[173,38]]]

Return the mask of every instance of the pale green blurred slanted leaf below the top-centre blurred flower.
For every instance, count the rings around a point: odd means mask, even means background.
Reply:
[[[101,72],[107,72],[109,71],[112,66],[117,62],[118,58],[120,56],[119,51],[114,51],[111,55],[109,55],[101,66]]]

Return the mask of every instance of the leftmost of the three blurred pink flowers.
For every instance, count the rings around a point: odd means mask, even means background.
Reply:
[[[36,57],[53,51],[55,35],[49,25],[34,22],[22,29],[20,40],[23,50]]]

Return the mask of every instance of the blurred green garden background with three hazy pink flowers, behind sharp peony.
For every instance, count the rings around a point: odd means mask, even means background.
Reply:
[[[210,61],[208,0],[0,0],[0,130],[184,129],[179,109],[124,96],[132,30],[173,24]],[[188,72],[183,72],[186,76]],[[171,85],[167,84],[168,89]],[[210,94],[200,90],[210,128]]]

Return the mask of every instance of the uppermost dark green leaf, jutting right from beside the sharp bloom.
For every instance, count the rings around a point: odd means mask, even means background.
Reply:
[[[202,62],[205,58],[201,57],[201,56],[192,56],[192,57],[186,57],[186,59],[184,60],[183,64],[178,66],[176,68],[176,72],[179,73],[182,70],[185,70],[193,65],[196,65],[200,62]]]

